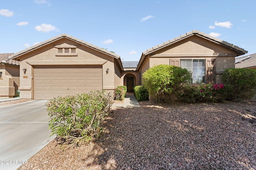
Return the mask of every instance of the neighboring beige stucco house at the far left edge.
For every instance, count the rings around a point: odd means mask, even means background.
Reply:
[[[0,98],[17,96],[20,86],[19,61],[9,59],[13,53],[0,54]]]

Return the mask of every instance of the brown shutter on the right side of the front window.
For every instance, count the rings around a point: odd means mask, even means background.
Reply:
[[[205,67],[206,67],[206,72],[205,72],[206,84],[208,84],[208,83],[214,84],[216,82],[215,81],[216,59],[206,59],[205,62],[206,62],[206,64],[205,64]]]

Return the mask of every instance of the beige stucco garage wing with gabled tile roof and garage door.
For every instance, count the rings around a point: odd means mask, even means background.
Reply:
[[[48,100],[121,85],[120,56],[66,34],[9,58],[20,61],[20,98]]]

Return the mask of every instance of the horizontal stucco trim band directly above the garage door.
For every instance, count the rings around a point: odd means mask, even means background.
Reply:
[[[36,65],[103,65],[107,61],[92,60],[92,61],[26,61],[26,63]]]

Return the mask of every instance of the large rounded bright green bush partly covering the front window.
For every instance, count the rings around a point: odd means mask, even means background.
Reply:
[[[182,84],[190,81],[190,72],[178,66],[160,64],[142,75],[142,82],[150,96],[157,101],[169,102],[179,94]]]

